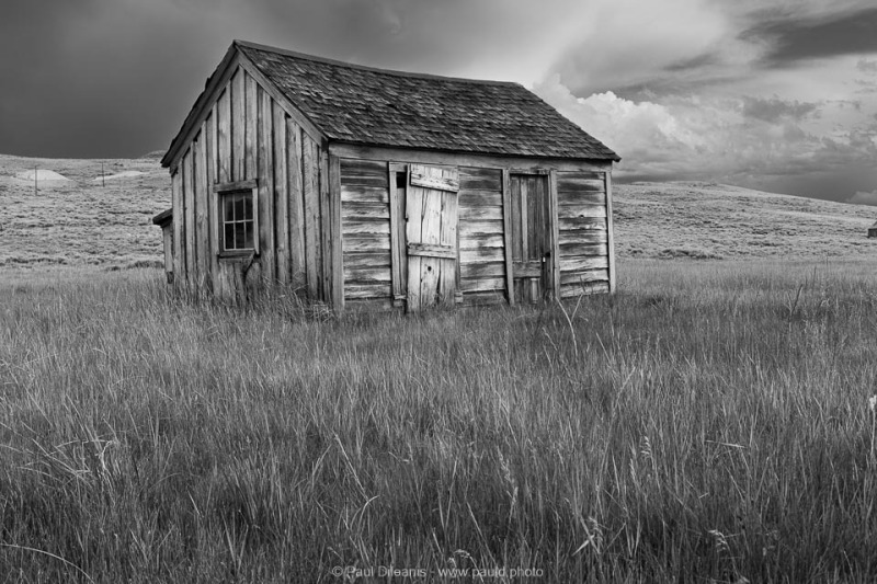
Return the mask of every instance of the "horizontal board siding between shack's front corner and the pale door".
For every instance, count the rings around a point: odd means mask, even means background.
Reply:
[[[344,298],[384,306],[392,299],[387,163],[342,158],[340,175]]]

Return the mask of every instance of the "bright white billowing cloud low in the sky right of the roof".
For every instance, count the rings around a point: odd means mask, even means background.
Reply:
[[[802,108],[772,98],[758,102],[753,113],[753,100],[747,98],[664,96],[663,103],[635,102],[613,92],[578,98],[558,76],[534,90],[623,158],[620,178],[731,182],[877,157],[875,127],[835,129],[824,137],[808,131],[807,119],[818,118],[824,104]]]

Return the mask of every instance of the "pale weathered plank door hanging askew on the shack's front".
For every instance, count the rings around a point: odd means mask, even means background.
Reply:
[[[456,169],[411,164],[406,198],[408,311],[453,302],[457,289]]]

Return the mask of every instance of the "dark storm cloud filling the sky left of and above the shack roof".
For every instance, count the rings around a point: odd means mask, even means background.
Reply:
[[[0,153],[167,148],[235,38],[454,75],[508,43],[501,4],[512,32],[538,11],[523,0],[3,0]]]

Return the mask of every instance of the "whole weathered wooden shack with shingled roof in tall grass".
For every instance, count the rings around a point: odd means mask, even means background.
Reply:
[[[335,309],[612,291],[617,160],[516,83],[236,41],[161,160],[168,270]]]

